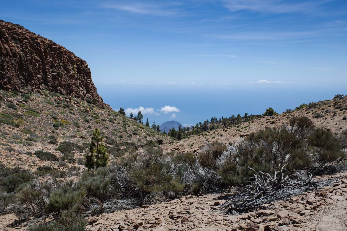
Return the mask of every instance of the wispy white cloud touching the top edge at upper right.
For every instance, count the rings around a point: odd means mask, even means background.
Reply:
[[[230,11],[249,10],[270,13],[309,13],[331,0],[283,1],[283,0],[222,0]]]

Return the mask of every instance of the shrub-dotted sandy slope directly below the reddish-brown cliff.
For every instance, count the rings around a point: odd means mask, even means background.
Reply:
[[[102,109],[80,99],[46,91],[16,95],[0,90],[0,156],[5,166],[32,171],[44,165],[84,168],[78,158],[84,160],[94,128],[104,135],[111,160],[150,140],[170,140],[110,108]],[[66,142],[70,151],[58,151],[59,145]],[[50,152],[57,158],[45,160],[36,151]]]

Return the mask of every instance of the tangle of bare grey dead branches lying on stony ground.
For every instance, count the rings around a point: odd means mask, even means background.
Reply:
[[[305,176],[303,172],[286,176],[284,167],[282,167],[281,171],[275,172],[273,177],[268,173],[257,172],[248,167],[254,171],[253,180],[249,179],[246,182],[246,184],[249,183],[248,185],[236,188],[221,208],[226,209],[228,213],[235,214],[250,212],[263,204],[288,199],[338,182],[338,178],[314,181],[312,174]]]

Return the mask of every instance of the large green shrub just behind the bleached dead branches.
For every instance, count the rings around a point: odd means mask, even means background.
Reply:
[[[340,140],[327,130],[314,128],[307,117],[293,117],[289,123],[290,127],[251,133],[238,144],[219,170],[225,183],[240,185],[253,176],[253,170],[274,174],[285,168],[294,174],[344,157]]]

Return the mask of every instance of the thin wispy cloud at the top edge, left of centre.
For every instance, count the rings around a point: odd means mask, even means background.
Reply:
[[[180,3],[169,2],[165,4],[156,3],[124,3],[124,4],[104,4],[104,8],[127,11],[134,14],[154,15],[154,16],[173,16],[177,15],[177,6]]]

